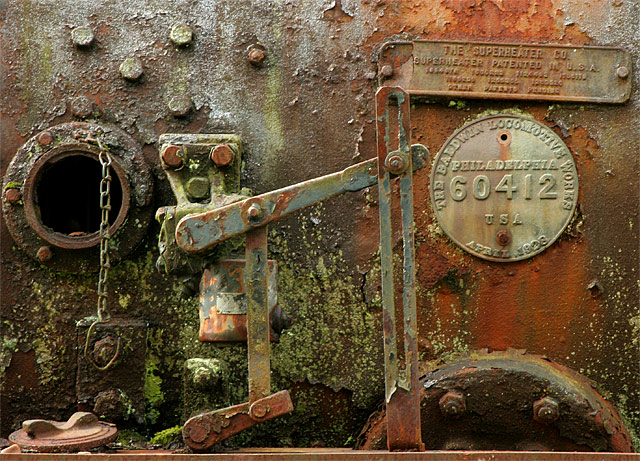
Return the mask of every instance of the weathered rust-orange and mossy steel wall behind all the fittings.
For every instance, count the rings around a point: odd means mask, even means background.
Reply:
[[[158,137],[234,133],[244,145],[243,186],[261,193],[376,155],[376,56],[385,39],[612,45],[631,52],[638,68],[639,15],[637,2],[622,0],[4,1],[0,170],[4,175],[20,146],[47,127],[74,120],[112,125],[139,143],[154,176],[153,206],[160,207],[174,199]],[[186,47],[169,39],[181,22],[194,31]],[[74,46],[78,26],[92,28],[89,47]],[[262,66],[248,60],[256,43],[266,50]],[[137,81],[119,72],[130,57],[144,69]],[[637,73],[633,78],[622,105],[412,106],[413,142],[433,155],[480,114],[532,115],[567,144],[580,180],[578,212],[559,241],[532,259],[500,264],[474,258],[443,235],[429,204],[429,168],[416,174],[425,369],[482,348],[546,354],[593,379],[638,431],[640,103]],[[176,96],[192,101],[187,115],[169,109]],[[274,390],[291,389],[297,409],[234,443],[343,445],[381,401],[375,197],[375,188],[338,197],[272,226],[280,304],[294,318],[273,346]],[[4,221],[0,232],[6,437],[24,419],[66,419],[75,410],[76,322],[95,313],[97,277],[52,271],[18,248]],[[247,392],[246,348],[197,341],[196,298],[155,270],[157,232],[152,223],[138,249],[114,267],[108,303],[114,317],[148,322],[146,378],[129,385],[144,388],[151,431],[183,422],[186,359],[223,359],[231,402],[245,401]],[[139,404],[122,418],[141,421]]]

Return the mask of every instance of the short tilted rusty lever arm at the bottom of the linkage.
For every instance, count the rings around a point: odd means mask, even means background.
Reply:
[[[292,411],[289,391],[280,391],[253,404],[241,403],[194,416],[183,426],[182,437],[195,451],[204,451],[258,423]]]

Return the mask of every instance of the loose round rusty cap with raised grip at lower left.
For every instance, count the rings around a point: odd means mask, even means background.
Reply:
[[[77,412],[66,422],[25,421],[22,429],[12,433],[9,440],[23,450],[60,453],[101,447],[113,442],[117,435],[114,424],[98,421],[92,413]]]

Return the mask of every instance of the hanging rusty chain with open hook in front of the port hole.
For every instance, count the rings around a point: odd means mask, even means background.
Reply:
[[[109,152],[104,148],[100,138],[97,138],[98,147],[100,153],[98,154],[98,160],[102,166],[102,180],[100,181],[100,273],[98,275],[98,305],[97,316],[98,319],[91,324],[89,331],[87,331],[87,339],[84,344],[84,357],[95,368],[100,371],[105,371],[111,368],[118,355],[120,354],[120,338],[118,338],[118,344],[116,346],[116,352],[105,366],[101,367],[93,359],[89,357],[89,343],[91,335],[95,326],[105,321],[105,313],[107,320],[109,319],[109,313],[106,311],[105,306],[107,304],[107,280],[109,278],[109,269],[111,264],[109,262],[109,212],[111,211],[111,156]]]

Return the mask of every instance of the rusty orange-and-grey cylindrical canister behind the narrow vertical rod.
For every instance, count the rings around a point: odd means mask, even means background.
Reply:
[[[247,340],[247,294],[244,259],[224,259],[207,267],[200,281],[200,341]],[[277,261],[268,263],[267,294],[271,341],[291,320],[278,305]]]

